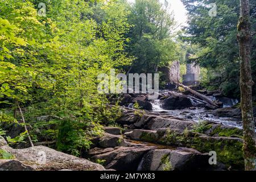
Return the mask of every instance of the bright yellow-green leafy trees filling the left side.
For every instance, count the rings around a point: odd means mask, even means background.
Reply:
[[[46,3],[46,17],[35,9],[40,2]],[[34,141],[56,140],[58,150],[79,156],[90,138],[101,134],[101,124],[113,124],[120,114],[117,107],[106,107],[97,76],[119,72],[133,60],[124,51],[131,27],[127,5],[83,0],[1,0],[0,5],[1,108],[15,113],[18,102]],[[1,122],[15,120],[0,114]],[[41,116],[47,119],[38,120]]]

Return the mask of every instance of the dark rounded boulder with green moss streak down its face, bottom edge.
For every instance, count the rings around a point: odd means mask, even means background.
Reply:
[[[209,167],[209,156],[178,150],[156,149],[148,151],[139,164],[139,171],[194,171]]]

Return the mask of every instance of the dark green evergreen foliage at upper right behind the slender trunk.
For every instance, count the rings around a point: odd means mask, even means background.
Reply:
[[[188,26],[186,35],[181,36],[185,42],[191,43],[193,56],[201,67],[214,73],[213,77],[204,78],[206,88],[221,89],[226,96],[240,98],[240,72],[239,50],[237,42],[237,22],[240,15],[239,1],[208,1],[208,0],[182,0],[188,11]],[[210,3],[216,3],[217,16],[209,16]],[[255,30],[256,1],[250,1],[251,30]],[[256,37],[251,38],[251,48],[256,47]],[[252,51],[251,65],[253,80],[256,81],[256,53]],[[255,94],[255,85],[254,92]]]

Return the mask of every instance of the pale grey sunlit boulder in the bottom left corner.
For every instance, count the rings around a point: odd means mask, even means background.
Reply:
[[[104,171],[100,164],[73,155],[64,154],[44,146],[36,146],[24,149],[14,149],[7,146],[5,140],[0,137],[0,150],[5,150],[14,156],[15,161],[0,160],[2,170],[43,170],[58,171],[70,169],[75,171]]]

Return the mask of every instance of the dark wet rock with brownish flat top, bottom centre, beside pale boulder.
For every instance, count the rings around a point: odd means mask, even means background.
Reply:
[[[155,148],[155,146],[119,147],[114,151],[93,156],[92,159],[105,160],[104,166],[106,169],[136,171],[143,155]]]

